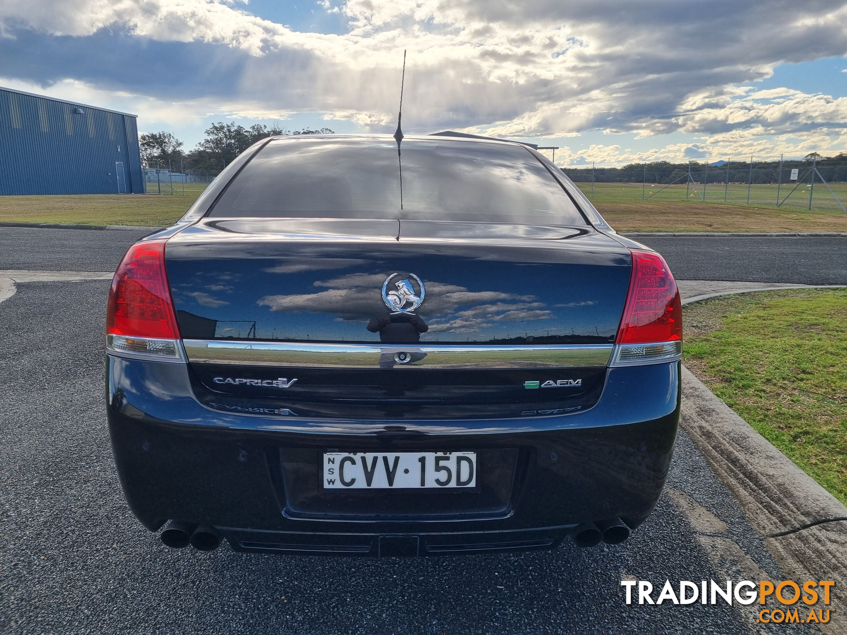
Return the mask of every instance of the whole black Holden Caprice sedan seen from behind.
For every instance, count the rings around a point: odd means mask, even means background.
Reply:
[[[617,543],[678,425],[667,264],[508,141],[261,141],[130,247],[106,339],[121,483],[171,547]]]

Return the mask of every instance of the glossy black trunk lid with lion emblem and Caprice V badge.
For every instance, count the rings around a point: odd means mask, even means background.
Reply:
[[[587,228],[385,219],[208,220],[166,263],[208,405],[367,419],[590,407],[630,273]]]

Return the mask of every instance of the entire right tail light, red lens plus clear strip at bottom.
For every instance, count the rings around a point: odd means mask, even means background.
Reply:
[[[683,310],[665,259],[632,251],[633,268],[613,364],[667,362],[682,355]]]

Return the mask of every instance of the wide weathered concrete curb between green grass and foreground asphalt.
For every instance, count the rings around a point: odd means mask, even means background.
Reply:
[[[787,579],[835,580],[835,588],[844,588],[847,507],[686,367],[682,384],[680,426],[739,501],[747,522],[764,538]],[[847,624],[844,616],[838,621]]]

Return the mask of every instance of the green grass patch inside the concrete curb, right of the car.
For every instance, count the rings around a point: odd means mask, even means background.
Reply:
[[[847,290],[715,298],[684,323],[686,366],[847,503]]]

